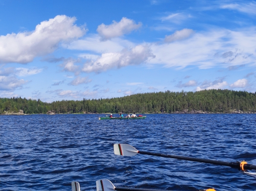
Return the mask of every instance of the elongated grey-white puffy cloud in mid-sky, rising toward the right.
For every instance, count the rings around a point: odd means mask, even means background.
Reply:
[[[95,61],[85,63],[82,71],[101,72],[111,68],[121,68],[128,65],[145,63],[149,58],[154,58],[148,45],[138,45],[131,50],[124,49],[121,52],[108,52],[102,54]]]

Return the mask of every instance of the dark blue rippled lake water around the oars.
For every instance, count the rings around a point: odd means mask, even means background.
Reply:
[[[0,190],[96,191],[116,186],[196,191],[256,190],[235,168],[138,154],[113,154],[114,143],[141,151],[256,165],[255,114],[151,114],[145,120],[98,120],[104,114],[0,116]]]

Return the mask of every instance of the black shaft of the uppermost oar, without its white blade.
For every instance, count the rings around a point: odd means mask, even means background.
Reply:
[[[240,162],[224,162],[224,161],[219,161],[219,160],[198,159],[198,158],[194,158],[194,157],[183,157],[183,156],[177,156],[177,155],[172,155],[172,154],[160,154],[160,153],[151,153],[151,152],[145,152],[145,151],[138,151],[138,153],[152,155],[152,156],[158,156],[158,157],[179,159],[179,160],[204,162],[204,163],[213,164],[213,165],[230,166],[232,168],[238,168],[240,170]],[[244,169],[245,170],[256,170],[256,165],[245,164]]]

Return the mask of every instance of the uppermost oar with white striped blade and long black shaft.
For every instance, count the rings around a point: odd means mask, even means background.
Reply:
[[[173,158],[173,159],[179,159],[179,160],[190,160],[195,162],[204,162],[208,164],[213,165],[222,165],[222,166],[230,166],[232,168],[238,168],[239,170],[245,171],[245,170],[256,170],[256,165],[250,165],[247,164],[247,162],[223,162],[219,160],[209,160],[209,159],[198,159],[194,157],[183,157],[183,156],[177,156],[172,154],[160,154],[160,153],[151,153],[151,152],[145,152],[145,151],[138,151],[136,148],[134,148],[131,145],[128,144],[114,144],[114,153],[122,156],[134,156],[136,154],[146,154],[146,155],[152,155],[152,156],[158,156],[158,157],[167,157],[167,158]]]

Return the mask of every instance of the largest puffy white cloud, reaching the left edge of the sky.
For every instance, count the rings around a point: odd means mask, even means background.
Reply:
[[[53,52],[62,41],[83,36],[86,30],[75,21],[75,17],[57,15],[38,24],[35,31],[0,36],[0,63],[29,63]]]

